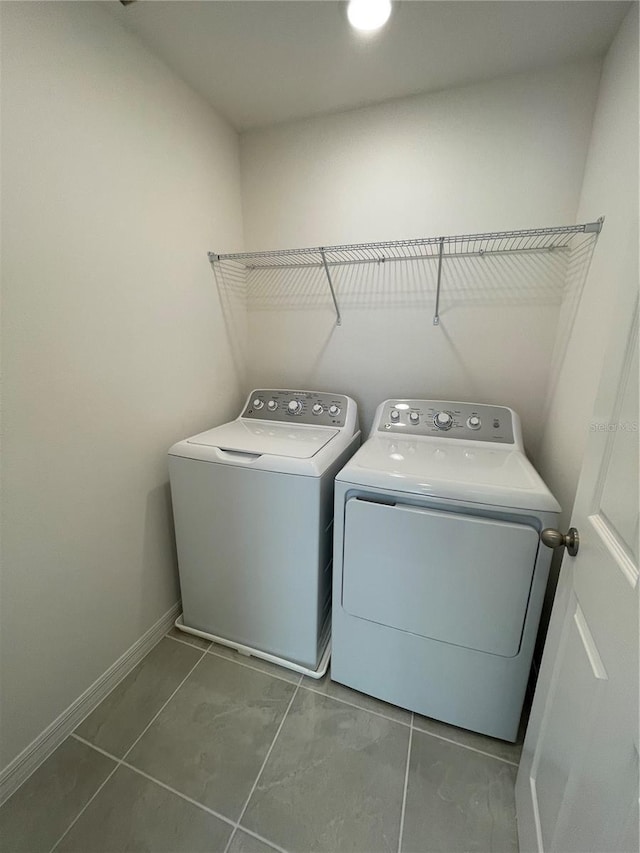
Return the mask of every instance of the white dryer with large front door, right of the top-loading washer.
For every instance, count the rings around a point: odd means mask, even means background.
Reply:
[[[382,403],[336,479],[331,677],[514,741],[559,511],[511,409]]]

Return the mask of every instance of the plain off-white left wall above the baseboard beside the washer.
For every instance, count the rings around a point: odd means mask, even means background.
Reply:
[[[178,598],[166,451],[232,415],[236,134],[96,3],[2,3],[2,766]]]

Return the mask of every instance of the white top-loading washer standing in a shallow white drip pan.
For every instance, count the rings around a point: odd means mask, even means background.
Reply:
[[[171,448],[178,628],[324,674],[333,482],[359,444],[351,398],[267,389],[235,421]]]

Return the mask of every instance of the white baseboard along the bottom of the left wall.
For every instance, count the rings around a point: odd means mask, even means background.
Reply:
[[[105,696],[142,658],[148,654],[172,627],[181,612],[178,601],[164,616],[146,631],[139,640],[127,649],[118,660],[93,682],[75,702],[63,711],[51,725],[41,732],[29,746],[25,747],[0,773],[0,805],[25,782],[43,761],[67,738],[71,732],[102,702]]]

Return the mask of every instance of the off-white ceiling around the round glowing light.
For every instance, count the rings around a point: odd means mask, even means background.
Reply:
[[[106,5],[237,130],[604,54],[617,0],[395,0],[369,36],[338,0]]]

